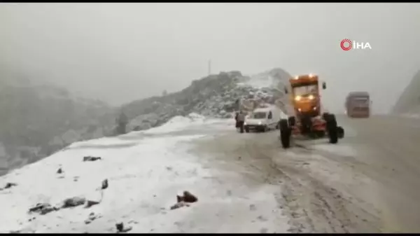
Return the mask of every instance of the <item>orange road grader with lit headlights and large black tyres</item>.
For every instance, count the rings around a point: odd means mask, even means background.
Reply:
[[[311,139],[328,136],[331,144],[337,144],[338,139],[344,137],[344,129],[337,126],[335,115],[323,112],[321,104],[318,76],[307,74],[289,79],[290,105],[293,113],[287,119],[279,122],[281,144],[283,148],[290,147],[293,135],[302,135]],[[326,88],[326,83],[322,83]]]

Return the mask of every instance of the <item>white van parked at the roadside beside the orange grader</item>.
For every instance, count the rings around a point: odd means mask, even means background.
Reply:
[[[282,113],[283,112],[276,106],[257,108],[246,116],[244,130],[245,132],[249,132],[250,130],[262,132],[275,130],[278,128]]]

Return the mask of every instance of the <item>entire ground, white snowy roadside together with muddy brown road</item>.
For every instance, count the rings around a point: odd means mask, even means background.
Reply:
[[[278,131],[239,134],[232,120],[198,116],[73,144],[0,177],[18,184],[0,190],[0,232],[115,232],[117,222],[130,232],[420,232],[418,120],[338,118],[339,144],[297,140],[287,151]],[[170,210],[183,190],[198,202]],[[27,213],[73,196],[100,203]]]

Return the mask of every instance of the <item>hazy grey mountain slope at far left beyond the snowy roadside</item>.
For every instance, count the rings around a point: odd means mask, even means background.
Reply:
[[[0,71],[0,174],[71,144],[73,132],[100,130],[112,112],[104,102]]]

